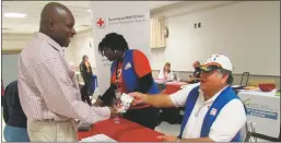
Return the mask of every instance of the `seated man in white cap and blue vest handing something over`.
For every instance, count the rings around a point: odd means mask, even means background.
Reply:
[[[212,55],[200,67],[200,85],[169,96],[131,93],[133,104],[185,107],[178,136],[159,136],[166,142],[241,142],[246,122],[243,103],[232,90],[233,65],[224,55]]]

